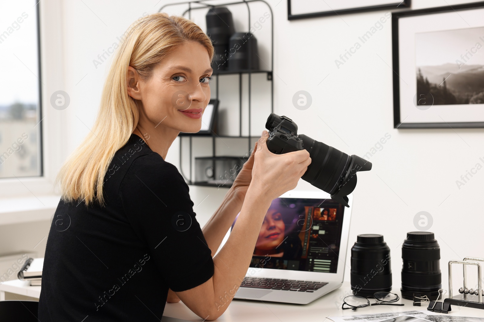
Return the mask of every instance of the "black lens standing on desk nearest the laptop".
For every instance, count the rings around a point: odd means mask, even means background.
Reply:
[[[360,296],[392,290],[390,247],[382,235],[358,235],[351,247],[351,290]]]

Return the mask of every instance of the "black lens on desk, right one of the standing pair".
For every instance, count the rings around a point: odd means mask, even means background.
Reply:
[[[402,297],[413,300],[414,294],[437,299],[442,288],[440,246],[434,233],[407,233],[402,244]]]

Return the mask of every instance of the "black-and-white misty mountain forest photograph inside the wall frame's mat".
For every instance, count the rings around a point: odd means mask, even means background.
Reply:
[[[484,103],[484,27],[415,35],[418,105]]]

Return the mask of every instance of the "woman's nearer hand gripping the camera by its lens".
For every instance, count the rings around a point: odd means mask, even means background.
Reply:
[[[273,200],[297,186],[299,179],[311,164],[311,158],[306,150],[274,154],[267,148],[268,137],[269,133],[263,131],[257,141],[251,187],[254,187],[260,196]]]

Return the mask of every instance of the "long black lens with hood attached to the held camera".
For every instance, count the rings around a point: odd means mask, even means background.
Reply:
[[[358,155],[350,156],[307,135],[300,134],[299,138],[311,157],[311,164],[302,175],[302,180],[348,206],[347,196],[356,187],[356,172],[371,170],[371,162],[363,160]]]

